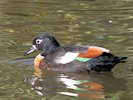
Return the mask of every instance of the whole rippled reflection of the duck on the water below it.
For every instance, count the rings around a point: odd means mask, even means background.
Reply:
[[[51,71],[45,72],[44,79],[38,78],[32,84],[39,95],[61,94],[85,98],[106,98],[111,93],[127,90],[126,81],[122,78],[115,78],[110,73],[95,73],[87,77],[83,73],[47,73]]]

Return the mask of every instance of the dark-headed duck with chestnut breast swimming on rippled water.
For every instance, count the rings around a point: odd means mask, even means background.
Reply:
[[[38,50],[42,52],[34,59],[35,69],[61,72],[111,71],[116,64],[124,63],[127,59],[115,56],[110,50],[99,46],[61,46],[49,33],[36,36],[32,41],[32,47],[24,55]]]

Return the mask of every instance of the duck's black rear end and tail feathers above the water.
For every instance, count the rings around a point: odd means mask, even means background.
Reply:
[[[118,63],[126,62],[127,57],[117,57],[110,53],[103,53],[101,56],[88,61],[90,71],[111,71]]]

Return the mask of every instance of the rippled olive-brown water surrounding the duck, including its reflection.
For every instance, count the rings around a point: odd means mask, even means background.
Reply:
[[[132,0],[1,0],[1,100],[133,100]],[[97,45],[127,56],[112,73],[44,72],[24,57],[34,36],[50,32],[62,45]]]

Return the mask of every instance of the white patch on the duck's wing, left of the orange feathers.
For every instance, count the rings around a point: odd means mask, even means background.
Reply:
[[[67,53],[65,53],[64,56],[58,58],[58,60],[56,62],[60,63],[60,64],[67,64],[67,63],[73,61],[78,55],[79,55],[79,53],[67,52]]]

